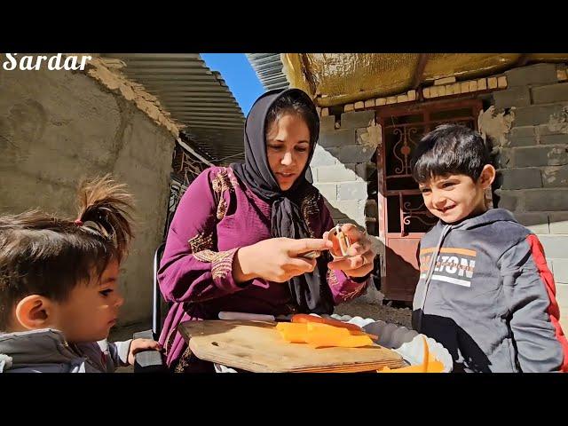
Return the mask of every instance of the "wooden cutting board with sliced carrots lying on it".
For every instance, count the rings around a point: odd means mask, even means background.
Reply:
[[[200,359],[255,373],[363,372],[404,367],[397,352],[374,345],[318,348],[288,343],[276,322],[249,320],[186,321],[179,330]]]

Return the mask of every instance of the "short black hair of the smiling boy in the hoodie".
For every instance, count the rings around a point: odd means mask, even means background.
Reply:
[[[431,177],[461,174],[477,181],[491,158],[485,141],[475,130],[460,124],[442,124],[425,135],[410,162],[416,182]]]

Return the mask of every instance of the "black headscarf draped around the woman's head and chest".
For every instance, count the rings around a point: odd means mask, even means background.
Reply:
[[[306,99],[313,109],[316,129],[310,134],[310,154],[300,177],[287,191],[282,191],[270,170],[266,156],[266,116],[274,102],[283,95]],[[292,239],[311,238],[300,207],[305,197],[318,193],[318,190],[305,177],[309,170],[313,151],[319,138],[319,118],[312,99],[299,89],[267,91],[256,99],[248,113],[245,123],[245,163],[233,163],[235,175],[253,193],[272,205],[272,237]],[[311,273],[304,273],[288,280],[292,299],[296,301],[299,312],[331,313],[333,301],[327,286],[327,256],[319,256],[318,264]]]

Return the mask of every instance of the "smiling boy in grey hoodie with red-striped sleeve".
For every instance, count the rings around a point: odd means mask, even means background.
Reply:
[[[420,245],[413,327],[450,351],[454,371],[568,371],[540,241],[508,210],[487,209],[495,169],[483,138],[439,126],[411,164],[426,208],[439,218]]]

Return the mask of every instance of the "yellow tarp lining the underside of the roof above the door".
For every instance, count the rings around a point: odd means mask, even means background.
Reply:
[[[420,83],[455,76],[468,80],[494,75],[519,60],[565,62],[568,53],[430,53]],[[414,89],[419,53],[282,53],[291,87],[310,93],[319,106],[341,105]]]

